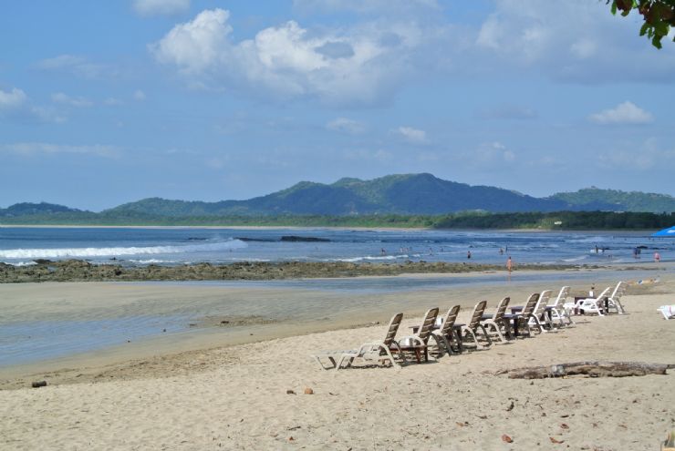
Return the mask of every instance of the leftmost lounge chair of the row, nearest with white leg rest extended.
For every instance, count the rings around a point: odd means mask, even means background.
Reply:
[[[403,320],[403,313],[397,313],[389,321],[387,334],[381,342],[370,342],[362,344],[358,349],[349,351],[325,351],[312,355],[314,359],[325,370],[340,368],[348,368],[356,358],[370,362],[384,363],[389,361],[392,366],[399,368],[399,364],[394,360],[394,353],[400,354],[403,364],[406,363],[405,356],[400,352],[399,343],[394,340],[397,331],[399,330],[400,322]],[[330,365],[325,364],[321,359],[327,359]]]

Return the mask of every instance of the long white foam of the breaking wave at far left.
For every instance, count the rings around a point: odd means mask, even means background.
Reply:
[[[88,257],[117,257],[121,255],[151,255],[161,253],[230,251],[248,247],[244,241],[228,240],[185,246],[68,248],[68,249],[10,249],[0,251],[0,259],[64,259]]]

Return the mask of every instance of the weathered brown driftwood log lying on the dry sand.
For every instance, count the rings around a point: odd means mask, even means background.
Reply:
[[[576,362],[574,364],[551,364],[503,371],[510,379],[544,379],[586,374],[589,377],[626,377],[631,375],[666,374],[675,364],[641,364],[639,362]]]

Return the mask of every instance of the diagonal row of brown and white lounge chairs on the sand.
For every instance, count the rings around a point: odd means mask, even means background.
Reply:
[[[511,313],[507,313],[511,302],[509,297],[497,304],[494,313],[485,313],[487,301],[481,301],[473,307],[468,323],[457,323],[460,305],[454,305],[441,317],[439,309],[434,307],[424,314],[420,326],[413,327],[412,333],[398,339],[396,334],[403,313],[397,313],[389,321],[384,340],[364,343],[353,350],[321,352],[312,357],[324,369],[348,368],[356,359],[400,367],[399,361],[408,363],[406,354],[414,356],[418,363],[429,360],[430,340],[436,345],[437,358],[445,353],[452,355],[469,349],[487,349],[495,341],[507,343],[516,338],[531,337],[533,332],[546,333],[554,328],[573,326],[573,313],[597,313],[599,316],[611,310],[625,313],[620,298],[626,287],[626,282],[618,282],[613,290],[608,287],[595,298],[582,298],[575,302],[566,302],[568,286],[562,287],[553,301],[551,290],[535,292],[523,306],[511,306]]]

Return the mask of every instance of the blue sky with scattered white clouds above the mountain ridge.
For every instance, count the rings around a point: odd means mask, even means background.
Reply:
[[[0,208],[430,172],[675,195],[675,43],[604,0],[32,0],[0,15]]]

